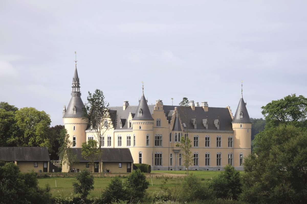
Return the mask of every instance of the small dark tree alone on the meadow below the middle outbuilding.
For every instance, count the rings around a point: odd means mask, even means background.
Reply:
[[[86,198],[90,194],[91,190],[94,190],[94,176],[90,174],[86,169],[78,172],[76,179],[77,182],[73,182],[74,193],[81,194],[81,198]]]

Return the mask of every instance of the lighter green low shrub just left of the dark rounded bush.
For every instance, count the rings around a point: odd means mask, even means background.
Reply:
[[[185,176],[181,186],[181,201],[191,202],[195,200],[206,200],[212,198],[212,190],[208,187],[208,183],[202,183],[200,178],[194,174]]]

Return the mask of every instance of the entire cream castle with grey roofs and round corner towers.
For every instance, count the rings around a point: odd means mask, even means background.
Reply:
[[[95,131],[82,119],[84,103],[75,68],[71,99],[63,109],[63,123],[74,148],[95,139]],[[191,140],[193,157],[189,170],[223,170],[227,164],[243,170],[244,157],[251,153],[251,120],[241,98],[235,116],[229,106],[209,107],[207,102],[190,101],[187,109],[148,105],[144,91],[138,106],[108,107],[114,112],[111,128],[102,136],[101,148],[129,148],[134,163],[151,165],[153,170],[185,170],[183,150],[176,147],[183,135]],[[188,134],[186,129],[188,129]]]

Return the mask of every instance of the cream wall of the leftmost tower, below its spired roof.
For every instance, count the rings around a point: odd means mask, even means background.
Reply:
[[[85,130],[87,128],[87,120],[81,117],[64,117],[63,123],[69,134],[70,140],[73,141],[73,136],[76,136],[76,147],[81,147],[82,143],[86,141]]]

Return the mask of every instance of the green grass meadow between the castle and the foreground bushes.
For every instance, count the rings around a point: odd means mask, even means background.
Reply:
[[[212,177],[219,175],[220,171],[189,171],[189,174],[193,173],[202,180],[211,180]],[[73,175],[73,174],[70,174]],[[114,176],[114,175],[113,175]],[[147,189],[149,194],[153,193],[160,189],[160,185],[165,177],[168,178],[167,185],[169,187],[175,187],[180,185],[183,177],[185,176],[185,171],[152,171],[151,174],[146,174],[147,180],[150,185]],[[107,187],[110,183],[111,177],[106,176],[104,178],[94,178],[94,191],[91,191],[89,198],[99,197],[101,191]],[[123,178],[125,182],[125,178]],[[39,186],[45,187],[46,184],[49,184],[51,187],[52,195],[56,196],[58,194],[62,196],[69,196],[73,192],[72,183],[76,182],[76,178],[61,178],[61,177],[50,177],[50,178],[40,178],[38,179]]]

